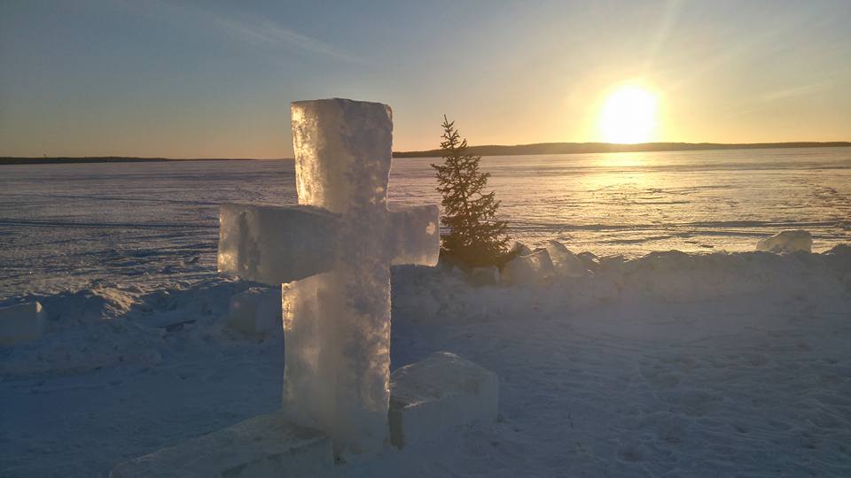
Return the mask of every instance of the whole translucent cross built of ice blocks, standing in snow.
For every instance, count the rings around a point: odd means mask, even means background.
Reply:
[[[385,104],[292,104],[299,204],[223,204],[219,271],[283,283],[284,408],[338,456],[387,435],[390,266],[434,266],[437,205],[388,209],[393,120]]]

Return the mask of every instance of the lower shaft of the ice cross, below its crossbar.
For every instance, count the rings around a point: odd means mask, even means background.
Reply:
[[[285,412],[325,430],[342,456],[378,450],[386,437],[390,277],[380,272],[284,285]],[[363,282],[371,296],[352,293]]]

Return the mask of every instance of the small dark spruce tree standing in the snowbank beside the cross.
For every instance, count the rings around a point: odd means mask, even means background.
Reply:
[[[479,171],[480,156],[467,153],[467,140],[461,139],[455,121],[443,116],[442,165],[437,170],[437,190],[443,195],[441,222],[449,235],[441,238],[441,253],[468,266],[498,265],[503,261],[508,224],[496,218],[500,201],[493,191],[485,194],[490,173]]]

